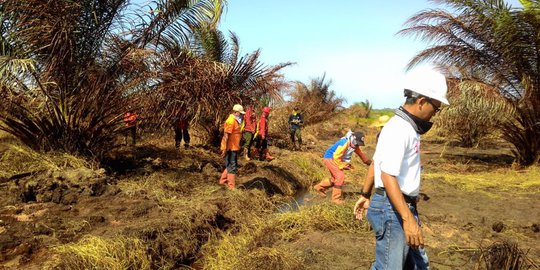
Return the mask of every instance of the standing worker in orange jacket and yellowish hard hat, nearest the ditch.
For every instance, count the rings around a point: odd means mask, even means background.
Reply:
[[[233,112],[223,125],[223,139],[221,140],[221,156],[225,159],[225,170],[221,174],[219,184],[234,189],[236,173],[238,171],[238,152],[240,151],[240,138],[242,137],[242,122],[244,107],[240,104],[233,106]]]

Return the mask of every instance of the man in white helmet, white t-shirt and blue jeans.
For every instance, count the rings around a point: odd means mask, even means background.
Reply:
[[[405,104],[383,127],[368,174],[354,207],[361,219],[365,209],[376,238],[371,269],[429,269],[416,209],[420,190],[420,135],[446,99],[446,79],[433,70],[406,75]],[[375,194],[371,189],[375,185]],[[369,208],[368,208],[369,207]]]

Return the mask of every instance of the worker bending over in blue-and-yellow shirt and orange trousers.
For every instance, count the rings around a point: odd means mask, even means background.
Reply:
[[[345,137],[334,143],[324,154],[324,165],[330,171],[330,180],[325,179],[314,186],[321,197],[326,197],[326,189],[332,187],[332,202],[343,203],[342,187],[345,184],[343,170],[351,169],[351,157],[356,153],[366,165],[371,164],[371,159],[362,152],[360,146],[364,146],[364,133],[349,131]]]

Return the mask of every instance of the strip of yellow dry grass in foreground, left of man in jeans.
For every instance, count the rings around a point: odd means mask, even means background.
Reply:
[[[365,221],[355,221],[351,208],[322,203],[299,211],[257,218],[238,233],[228,233],[204,247],[205,269],[303,269],[305,258],[284,244],[308,231],[367,232]]]

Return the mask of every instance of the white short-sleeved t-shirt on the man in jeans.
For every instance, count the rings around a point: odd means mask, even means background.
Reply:
[[[401,192],[420,191],[420,134],[405,119],[394,116],[384,126],[373,156],[375,187],[382,188],[381,171],[397,177]]]

